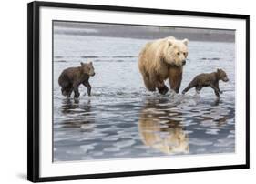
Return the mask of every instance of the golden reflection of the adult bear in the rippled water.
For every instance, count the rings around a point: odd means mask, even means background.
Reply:
[[[166,154],[189,153],[189,138],[180,113],[148,104],[141,112],[138,131],[143,143]]]

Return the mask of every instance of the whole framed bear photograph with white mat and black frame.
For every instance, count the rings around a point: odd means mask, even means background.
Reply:
[[[29,3],[28,180],[248,169],[249,20]]]

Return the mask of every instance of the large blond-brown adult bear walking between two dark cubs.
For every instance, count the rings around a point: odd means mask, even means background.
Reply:
[[[188,43],[188,39],[177,40],[169,36],[148,42],[143,47],[138,56],[138,68],[149,91],[158,88],[159,93],[166,94],[168,87],[164,81],[169,79],[170,88],[179,93]]]

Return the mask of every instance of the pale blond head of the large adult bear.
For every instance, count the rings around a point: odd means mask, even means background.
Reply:
[[[164,40],[165,46],[163,49],[164,61],[171,66],[186,65],[186,58],[188,56],[188,39],[176,40],[174,38],[166,38]]]

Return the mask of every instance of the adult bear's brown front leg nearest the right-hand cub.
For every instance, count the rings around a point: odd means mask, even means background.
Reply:
[[[169,87],[176,93],[179,93],[179,87],[182,80],[182,68],[169,69]]]

